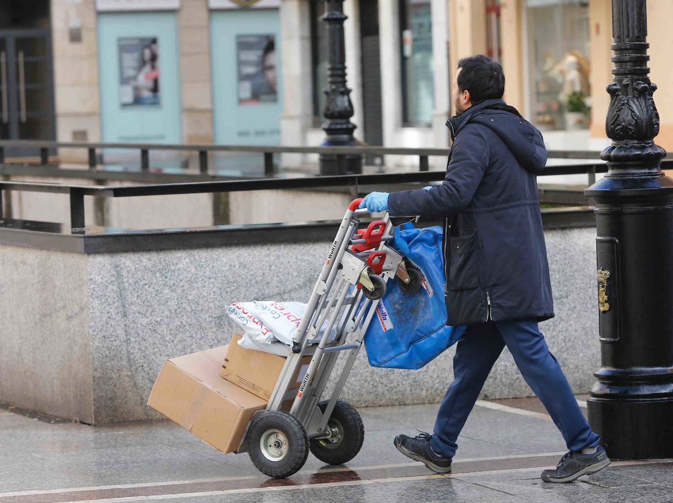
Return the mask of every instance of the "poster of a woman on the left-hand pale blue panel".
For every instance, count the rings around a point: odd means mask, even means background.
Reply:
[[[121,106],[161,104],[157,38],[118,38],[117,48]]]

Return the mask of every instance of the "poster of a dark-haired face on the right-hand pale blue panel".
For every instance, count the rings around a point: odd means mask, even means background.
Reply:
[[[276,48],[273,35],[238,35],[238,103],[277,101]]]

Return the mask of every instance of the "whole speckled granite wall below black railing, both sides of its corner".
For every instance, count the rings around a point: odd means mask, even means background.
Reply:
[[[540,326],[576,393],[588,392],[600,364],[595,235],[593,228],[546,231],[557,317]],[[234,301],[306,300],[327,248],[319,242],[84,256],[0,246],[1,305],[13,302],[13,310],[23,313],[9,314],[11,331],[2,337],[13,341],[13,349],[0,352],[0,400],[11,397],[16,405],[71,415],[41,401],[47,393],[39,387],[13,393],[15,384],[5,384],[15,383],[5,379],[7,369],[15,372],[17,366],[33,379],[49,380],[40,365],[11,364],[18,354],[38,353],[40,362],[48,356],[70,360],[81,380],[90,378],[92,421],[159,417],[145,402],[164,360],[227,343],[234,324],[225,308]],[[41,262],[44,254],[52,258]],[[30,267],[16,269],[22,261]],[[59,271],[58,277],[52,271]],[[23,294],[18,277],[26,278]],[[11,300],[14,295],[19,300]],[[46,321],[27,321],[32,312],[53,309],[55,300],[66,310],[63,320],[48,329],[42,326]],[[85,312],[68,314],[81,309]],[[5,331],[7,323],[0,326]],[[450,349],[425,368],[407,371],[371,368],[362,351],[343,397],[355,405],[439,401],[452,379],[453,354]],[[528,395],[505,350],[483,397]]]

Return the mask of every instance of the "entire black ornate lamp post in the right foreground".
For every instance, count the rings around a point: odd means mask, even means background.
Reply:
[[[654,143],[645,0],[612,0],[614,81],[596,203],[601,368],[589,422],[613,459],[673,457],[673,179]],[[663,48],[662,48],[663,49]]]

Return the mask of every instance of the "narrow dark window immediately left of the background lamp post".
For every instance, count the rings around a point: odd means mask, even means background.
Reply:
[[[313,61],[313,123],[320,127],[324,119],[325,89],[327,88],[328,42],[327,27],[322,20],[326,2],[311,0],[311,53]]]

